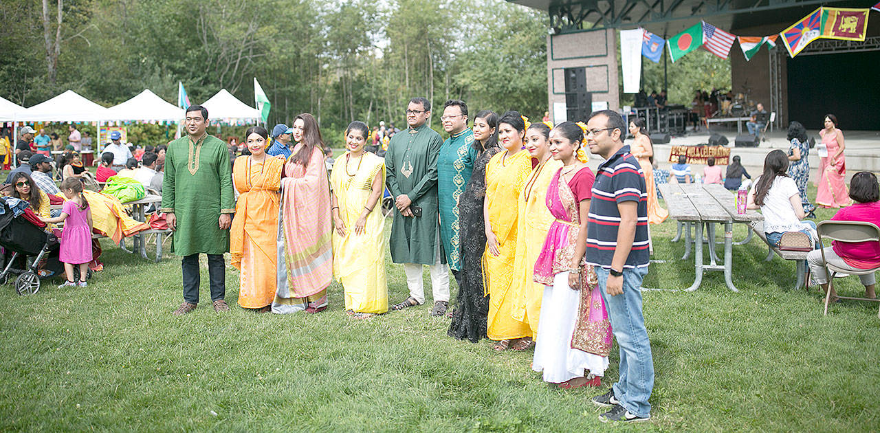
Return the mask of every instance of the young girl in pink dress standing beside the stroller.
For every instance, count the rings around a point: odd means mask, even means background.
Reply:
[[[61,192],[67,198],[61,216],[40,218],[44,223],[64,223],[61,234],[61,250],[58,260],[64,263],[67,281],[58,286],[85,287],[89,262],[92,261],[92,209],[83,195],[83,182],[77,178],[66,178],[61,182]],[[74,281],[73,265],[79,266],[79,282]]]

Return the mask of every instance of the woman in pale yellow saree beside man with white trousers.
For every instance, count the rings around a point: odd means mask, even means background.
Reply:
[[[330,173],[333,273],[342,284],[348,315],[359,319],[388,312],[387,239],[379,203],[385,190],[385,159],[363,150],[367,131],[362,121],[348,125],[348,151],[336,159]]]

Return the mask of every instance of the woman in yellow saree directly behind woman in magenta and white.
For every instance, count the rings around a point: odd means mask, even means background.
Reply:
[[[556,220],[547,209],[546,195],[550,180],[562,166],[560,160],[550,158],[547,138],[550,126],[546,123],[532,123],[525,130],[525,150],[538,162],[532,174],[525,180],[522,194],[519,194],[517,220],[517,254],[514,266],[514,290],[518,296],[513,310],[513,318],[527,323],[532,329],[532,338],[524,337],[514,344],[514,350],[525,350],[532,345],[538,335],[538,319],[541,312],[541,299],[544,297],[544,284],[535,283],[535,261],[541,253],[541,246],[550,224]]]

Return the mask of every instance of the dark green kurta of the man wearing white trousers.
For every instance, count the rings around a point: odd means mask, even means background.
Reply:
[[[407,194],[410,207],[422,208],[422,217],[404,217],[394,209],[391,258],[394,263],[433,265],[437,231],[437,155],[443,139],[423,124],[392,136],[385,153],[385,184],[394,197]],[[441,262],[445,255],[441,252]]]

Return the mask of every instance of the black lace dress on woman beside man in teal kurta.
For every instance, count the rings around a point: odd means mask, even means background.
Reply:
[[[483,296],[483,252],[486,250],[486,226],[483,200],[486,198],[486,165],[499,147],[480,154],[473,164],[465,194],[458,199],[458,224],[461,231],[461,287],[458,288],[455,312],[449,334],[458,340],[473,342],[486,338],[489,297]]]

